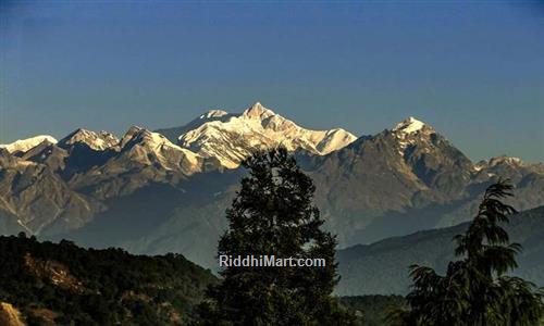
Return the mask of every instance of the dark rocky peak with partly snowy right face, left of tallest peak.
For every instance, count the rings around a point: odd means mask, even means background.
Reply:
[[[84,153],[91,164],[77,164],[83,160],[74,160],[76,164],[67,166],[74,171],[69,179],[72,187],[86,189],[100,199],[129,195],[153,183],[177,185],[205,171],[213,160],[137,126],[131,127],[115,148],[119,150]]]

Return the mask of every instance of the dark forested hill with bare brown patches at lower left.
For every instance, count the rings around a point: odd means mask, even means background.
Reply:
[[[0,237],[0,303],[28,325],[183,325],[217,278],[178,254]]]

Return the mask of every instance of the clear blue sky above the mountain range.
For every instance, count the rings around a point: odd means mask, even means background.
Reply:
[[[0,142],[261,101],[357,135],[413,115],[473,160],[544,161],[537,2],[0,3]]]

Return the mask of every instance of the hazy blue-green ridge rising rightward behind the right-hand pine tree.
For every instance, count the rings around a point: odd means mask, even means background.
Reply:
[[[408,266],[428,265],[444,273],[454,260],[455,235],[467,223],[442,229],[419,231],[405,237],[385,239],[368,246],[354,246],[338,251],[341,296],[405,294],[410,279]],[[511,216],[506,230],[511,240],[523,246],[515,275],[544,286],[544,206]]]

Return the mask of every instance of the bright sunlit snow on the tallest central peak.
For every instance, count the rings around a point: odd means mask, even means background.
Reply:
[[[227,168],[235,168],[252,151],[284,146],[290,151],[306,150],[324,155],[357,139],[344,129],[310,130],[257,102],[242,114],[210,111],[203,121],[178,137],[181,147],[202,156],[214,156]]]

